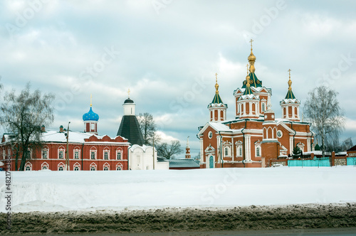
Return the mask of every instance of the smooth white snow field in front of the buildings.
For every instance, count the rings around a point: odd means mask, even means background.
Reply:
[[[356,202],[356,168],[11,173],[13,212]],[[6,212],[0,172],[0,212]]]

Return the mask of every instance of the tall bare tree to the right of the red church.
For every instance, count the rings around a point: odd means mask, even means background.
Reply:
[[[342,109],[337,101],[337,92],[325,86],[316,87],[308,93],[304,114],[313,124],[313,129],[321,139],[321,149],[325,157],[328,140],[337,138],[345,124]]]

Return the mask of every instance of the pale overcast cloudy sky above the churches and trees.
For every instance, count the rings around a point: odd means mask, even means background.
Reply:
[[[155,117],[164,140],[190,136],[219,93],[234,118],[253,38],[256,75],[271,87],[272,109],[288,90],[301,101],[319,85],[339,92],[347,117],[341,139],[356,142],[356,1],[0,1],[0,76],[4,89],[56,95],[48,129],[83,131],[90,108],[100,135],[115,136],[130,97]],[[184,154],[182,154],[184,156]]]

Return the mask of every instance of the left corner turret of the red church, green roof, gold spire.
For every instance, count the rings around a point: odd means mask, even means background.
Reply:
[[[215,84],[215,95],[213,101],[208,105],[210,112],[210,121],[211,122],[224,122],[226,120],[226,109],[227,104],[221,100],[219,95],[219,85],[218,85],[218,74],[215,73],[216,84]]]

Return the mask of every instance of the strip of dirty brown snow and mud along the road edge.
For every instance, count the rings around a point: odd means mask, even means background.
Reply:
[[[356,203],[342,205],[288,205],[236,207],[229,209],[14,213],[11,230],[6,215],[0,215],[0,235],[6,234],[110,234],[166,232],[219,232],[356,227]]]

